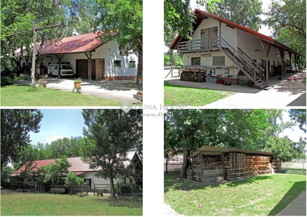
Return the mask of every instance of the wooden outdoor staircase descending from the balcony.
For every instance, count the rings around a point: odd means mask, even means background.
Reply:
[[[240,48],[236,50],[222,37],[220,37],[220,40],[221,50],[252,82],[255,83],[255,85],[260,89],[270,89],[267,83],[262,80],[262,75],[264,75],[264,69],[262,67],[258,66],[257,63]]]

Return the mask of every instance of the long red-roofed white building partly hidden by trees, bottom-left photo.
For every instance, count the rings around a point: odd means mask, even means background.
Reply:
[[[135,151],[127,152],[126,158],[128,159],[124,164],[126,167],[129,167],[130,174],[127,176],[119,177],[114,179],[114,184],[120,183],[123,185],[142,185],[142,171],[143,164],[141,159],[138,157],[138,154]],[[99,178],[95,176],[95,173],[99,169],[91,169],[89,164],[83,162],[80,157],[67,158],[68,162],[71,163],[71,167],[68,168],[69,172],[76,173],[78,177],[84,178],[84,181],[87,183],[87,191],[94,189],[94,185],[110,185],[109,180]],[[50,164],[55,164],[54,159],[49,160],[37,160],[33,162],[33,165],[29,168],[34,167],[31,171],[37,171],[43,166]],[[130,169],[131,167],[131,169]],[[15,177],[19,176],[22,171],[25,170],[25,165],[19,168],[14,174],[11,175],[11,182],[15,182]],[[24,180],[22,183],[25,185],[33,185],[36,182],[36,177],[31,179]],[[53,182],[52,182],[53,184]],[[97,187],[99,188],[99,187]]]

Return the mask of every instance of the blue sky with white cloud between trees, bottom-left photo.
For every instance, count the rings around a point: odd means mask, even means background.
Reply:
[[[50,143],[58,138],[82,136],[85,126],[81,109],[40,109],[44,114],[40,132],[30,132],[32,144]]]

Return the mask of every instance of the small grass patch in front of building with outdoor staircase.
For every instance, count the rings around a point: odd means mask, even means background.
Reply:
[[[170,85],[168,82],[164,82],[165,105],[203,106],[233,94],[235,93],[228,91],[182,87]]]

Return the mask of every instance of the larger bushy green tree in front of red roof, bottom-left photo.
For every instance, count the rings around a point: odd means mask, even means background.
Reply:
[[[53,180],[53,185],[56,183],[61,183],[62,178],[68,173],[68,168],[72,166],[68,162],[66,157],[62,157],[60,160],[55,159],[55,164],[44,166],[46,171],[44,182],[49,182]]]

